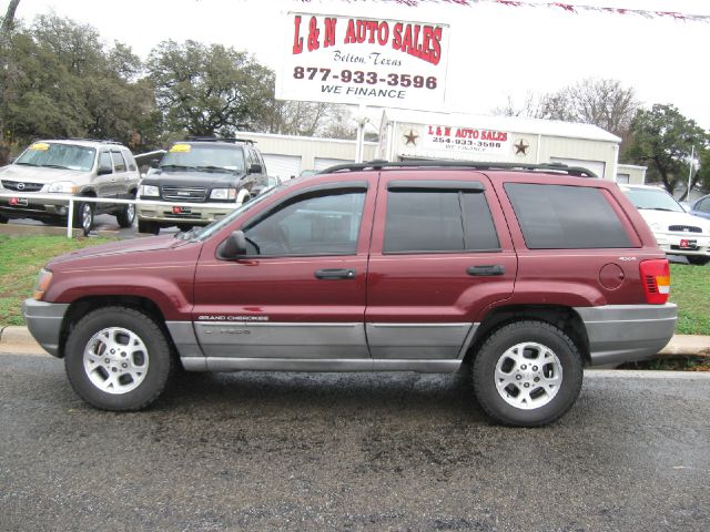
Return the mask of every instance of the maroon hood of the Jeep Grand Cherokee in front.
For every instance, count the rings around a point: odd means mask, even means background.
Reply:
[[[131,262],[145,264],[146,255],[151,252],[162,252],[169,249],[178,249],[187,245],[195,246],[194,242],[182,241],[175,238],[174,235],[153,236],[144,238],[135,238],[131,241],[112,242],[111,244],[103,244],[100,246],[85,247],[83,249],[77,249],[75,252],[67,253],[51,259],[47,267],[49,269],[72,269],[74,265],[87,266],[87,260],[100,262],[102,265],[113,263],[118,258],[125,258],[131,256]],[[202,247],[202,243],[196,246]],[[105,259],[105,260],[104,260]]]

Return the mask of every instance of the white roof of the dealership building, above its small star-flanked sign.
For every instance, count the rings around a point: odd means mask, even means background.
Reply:
[[[429,113],[426,111],[383,111],[383,122],[430,124],[510,131],[545,136],[561,136],[619,143],[621,139],[592,124],[578,124],[559,120],[527,119],[521,116],[491,116],[484,114]]]

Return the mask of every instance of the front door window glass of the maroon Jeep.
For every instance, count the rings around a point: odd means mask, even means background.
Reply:
[[[353,255],[365,191],[310,194],[287,201],[247,226],[250,255]]]

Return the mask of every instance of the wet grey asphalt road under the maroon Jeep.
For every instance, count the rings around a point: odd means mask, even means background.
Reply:
[[[708,531],[710,378],[655,375],[521,430],[460,376],[190,375],[116,415],[1,355],[0,529]]]

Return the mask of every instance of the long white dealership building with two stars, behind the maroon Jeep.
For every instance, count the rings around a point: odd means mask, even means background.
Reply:
[[[253,140],[270,174],[283,180],[355,161],[355,141],[240,133]],[[621,139],[591,124],[470,114],[386,110],[379,142],[364,160],[447,158],[520,164],[562,163],[598,177],[642,184],[643,166],[618,164]]]

